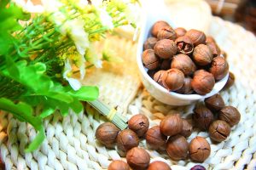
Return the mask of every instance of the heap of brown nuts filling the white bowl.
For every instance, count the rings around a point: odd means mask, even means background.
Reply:
[[[144,42],[143,65],[148,75],[178,94],[208,94],[229,72],[229,65],[212,37],[197,30],[172,29],[158,21],[153,37]]]

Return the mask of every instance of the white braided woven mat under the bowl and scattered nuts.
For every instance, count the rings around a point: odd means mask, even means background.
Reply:
[[[241,112],[241,122],[232,128],[229,139],[212,144],[208,133],[194,132],[206,137],[211,144],[211,156],[203,163],[208,169],[255,169],[256,168],[256,38],[240,26],[214,18],[212,36],[228,53],[230,71],[236,75],[236,84],[222,92],[227,105]],[[135,56],[132,56],[135,57]],[[150,126],[159,124],[166,114],[180,113],[189,116],[193,105],[171,107],[153,99],[145,90],[137,94],[128,107],[127,117],[138,112],[150,118]],[[104,169],[112,159],[123,159],[116,150],[108,150],[95,140],[96,127],[102,118],[94,112],[61,117],[58,114],[44,122],[47,139],[40,150],[24,153],[28,140],[35,131],[24,122],[16,121],[10,114],[0,114],[0,149],[7,169]],[[145,140],[141,146],[147,147]],[[162,160],[172,169],[189,169],[195,165],[187,161],[171,161],[164,153],[148,150],[151,161]]]

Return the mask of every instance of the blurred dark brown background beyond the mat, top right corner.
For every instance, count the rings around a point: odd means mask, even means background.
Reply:
[[[212,14],[230,20],[256,34],[256,0],[207,0]]]

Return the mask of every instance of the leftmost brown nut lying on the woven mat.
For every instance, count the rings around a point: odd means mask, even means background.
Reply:
[[[96,129],[96,139],[102,144],[110,146],[116,141],[119,128],[111,122],[104,122]]]

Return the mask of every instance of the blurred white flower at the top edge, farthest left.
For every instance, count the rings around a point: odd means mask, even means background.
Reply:
[[[44,13],[44,7],[42,5],[34,5],[30,0],[12,0],[18,6],[24,9],[24,11],[29,13]]]

